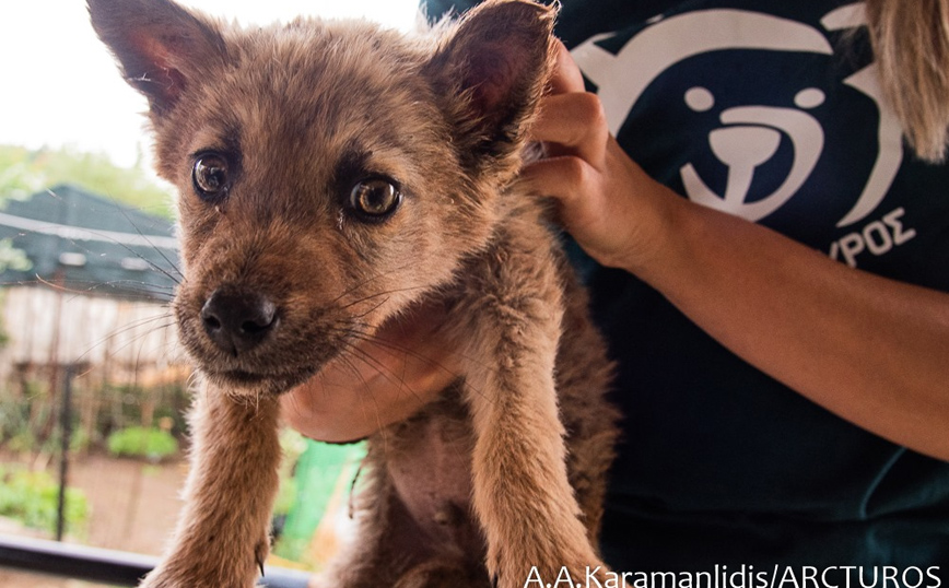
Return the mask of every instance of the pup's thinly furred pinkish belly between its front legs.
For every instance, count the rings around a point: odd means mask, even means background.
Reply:
[[[484,549],[471,513],[473,438],[467,411],[454,390],[446,392],[388,430],[394,438],[386,464],[393,490],[422,533],[419,539],[434,551],[470,556]]]

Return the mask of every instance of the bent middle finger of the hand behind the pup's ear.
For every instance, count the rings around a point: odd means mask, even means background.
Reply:
[[[530,130],[531,139],[548,144],[551,155],[576,155],[602,169],[609,129],[596,94],[576,92],[548,96]]]

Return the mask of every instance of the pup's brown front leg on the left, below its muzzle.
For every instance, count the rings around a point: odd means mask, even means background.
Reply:
[[[269,550],[280,444],[276,398],[233,399],[204,385],[191,416],[185,506],[148,588],[254,586]]]

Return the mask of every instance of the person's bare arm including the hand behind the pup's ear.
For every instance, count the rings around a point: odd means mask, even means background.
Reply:
[[[949,460],[949,294],[851,269],[679,198],[606,132],[562,48],[524,181],[601,263],[663,293],[734,353],[837,415]],[[949,271],[949,268],[947,268]]]

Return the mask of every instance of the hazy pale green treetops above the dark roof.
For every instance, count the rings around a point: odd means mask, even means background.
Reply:
[[[172,217],[171,189],[147,172],[141,162],[134,167],[119,167],[103,153],[0,145],[0,199],[26,198],[57,184],[73,184],[151,214]]]

